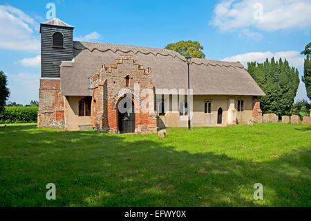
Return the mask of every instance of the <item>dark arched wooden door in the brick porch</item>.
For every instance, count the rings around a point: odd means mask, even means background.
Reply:
[[[132,104],[132,105],[129,105]],[[121,107],[124,107],[122,109],[117,109],[117,120],[118,120],[118,129],[120,134],[126,134],[126,133],[134,133],[135,132],[135,107],[133,100],[125,97],[122,100],[120,100]],[[129,107],[126,107],[126,106]],[[125,112],[124,112],[125,110]]]

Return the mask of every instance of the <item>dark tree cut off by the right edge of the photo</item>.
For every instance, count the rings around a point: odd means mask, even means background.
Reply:
[[[311,100],[311,42],[305,46],[305,50],[301,51],[301,55],[307,55],[303,66],[303,77],[301,80],[305,83],[307,96]]]

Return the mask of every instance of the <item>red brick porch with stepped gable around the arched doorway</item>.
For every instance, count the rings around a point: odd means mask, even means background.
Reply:
[[[126,87],[126,76],[129,85]],[[122,55],[109,67],[104,65],[89,78],[93,94],[92,112],[93,127],[97,131],[118,132],[118,103],[126,94],[131,94],[135,105],[135,132],[156,132],[156,112],[153,110],[153,85],[151,69],[144,69],[142,64],[132,56]],[[144,89],[152,93],[143,94]],[[152,100],[151,103],[147,100]],[[144,112],[151,105],[152,111]]]

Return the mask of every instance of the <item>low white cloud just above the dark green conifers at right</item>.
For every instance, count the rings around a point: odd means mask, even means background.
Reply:
[[[249,52],[239,55],[234,55],[232,57],[224,58],[224,61],[230,62],[241,62],[245,68],[247,68],[247,62],[264,62],[267,58],[279,61],[280,58],[288,60],[291,67],[296,67],[297,69],[303,68],[304,57],[299,53],[299,51],[279,51],[272,53],[270,51],[266,52]],[[301,71],[299,71],[301,72]]]

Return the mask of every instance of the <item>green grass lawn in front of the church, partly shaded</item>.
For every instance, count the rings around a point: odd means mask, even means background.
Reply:
[[[311,206],[310,125],[167,131],[0,128],[0,206]]]

